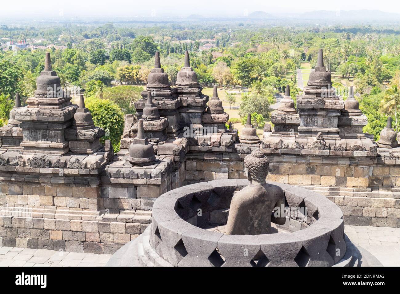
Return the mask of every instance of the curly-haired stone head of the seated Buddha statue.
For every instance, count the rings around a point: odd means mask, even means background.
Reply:
[[[244,158],[244,167],[251,184],[264,184],[268,174],[268,158],[260,149],[253,150]]]

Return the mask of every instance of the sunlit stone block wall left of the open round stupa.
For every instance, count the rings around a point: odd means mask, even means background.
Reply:
[[[98,175],[0,172],[0,179],[0,246],[98,254],[141,234],[163,189],[103,186]]]

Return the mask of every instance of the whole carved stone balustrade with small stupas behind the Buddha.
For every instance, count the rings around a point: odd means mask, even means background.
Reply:
[[[143,233],[154,201],[186,184],[245,178],[262,150],[267,180],[302,186],[337,204],[346,224],[400,227],[400,147],[391,118],[375,143],[354,91],[336,95],[319,52],[297,110],[287,87],[261,142],[248,117],[238,136],[218,98],[202,94],[185,53],[176,88],[157,52],[137,113],[116,154],[80,96],[72,104],[50,54],[33,97],[16,95],[0,128],[0,246],[113,253]],[[61,89],[61,90],[60,90]],[[208,104],[208,105],[207,105]]]

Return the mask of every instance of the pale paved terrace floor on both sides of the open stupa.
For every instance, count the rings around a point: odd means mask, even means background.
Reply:
[[[400,266],[400,228],[346,226],[352,242],[364,247],[384,266]],[[59,252],[0,247],[0,266],[104,266],[110,254]]]

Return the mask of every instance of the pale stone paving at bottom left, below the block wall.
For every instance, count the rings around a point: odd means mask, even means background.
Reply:
[[[0,247],[0,266],[104,266],[111,254]]]

